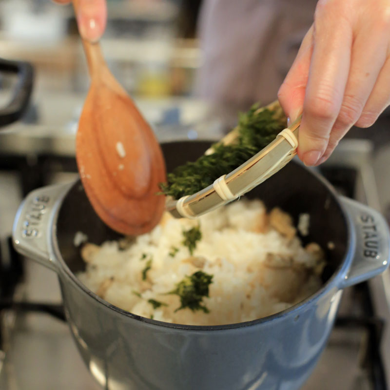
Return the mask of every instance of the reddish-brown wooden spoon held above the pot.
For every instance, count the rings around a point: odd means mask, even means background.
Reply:
[[[73,2],[77,12],[77,0]],[[82,41],[91,85],[78,123],[76,159],[98,216],[119,233],[152,230],[165,206],[165,162],[152,129],[108,69],[98,43]],[[82,218],[82,215],[78,217]]]

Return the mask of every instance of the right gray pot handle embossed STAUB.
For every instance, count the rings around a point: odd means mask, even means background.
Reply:
[[[385,218],[376,210],[340,197],[352,223],[354,254],[351,268],[340,288],[357,284],[386,270],[390,260],[390,233]]]

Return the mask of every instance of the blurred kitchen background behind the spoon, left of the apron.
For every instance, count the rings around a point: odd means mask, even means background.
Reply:
[[[173,108],[192,95],[201,61],[195,36],[199,5],[200,1],[180,0],[108,1],[103,53],[132,97],[142,103],[154,100],[153,106],[164,108],[170,101]],[[2,0],[0,53],[4,59],[28,61],[35,70],[34,91],[22,122],[75,131],[89,76],[73,7],[49,0]],[[1,75],[4,102],[5,87],[11,90],[13,78]],[[160,115],[168,114],[157,111],[151,109],[148,117],[164,122]],[[167,120],[175,114],[169,113]]]

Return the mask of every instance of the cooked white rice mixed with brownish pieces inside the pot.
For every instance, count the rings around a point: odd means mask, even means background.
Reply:
[[[160,225],[125,250],[119,250],[117,241],[100,247],[86,244],[86,271],[78,277],[117,307],[159,321],[219,325],[254,320],[289,308],[321,286],[323,252],[314,243],[303,248],[291,221],[279,209],[267,214],[258,200],[234,202],[199,220],[167,213]],[[202,239],[191,256],[182,244],[183,231],[199,222]],[[173,246],[178,248],[174,257],[169,255]],[[146,259],[141,259],[143,254]],[[142,280],[149,258],[151,269]],[[214,275],[210,297],[203,298],[210,312],[175,312],[180,299],[166,293],[199,270]],[[154,310],[149,299],[167,306]]]

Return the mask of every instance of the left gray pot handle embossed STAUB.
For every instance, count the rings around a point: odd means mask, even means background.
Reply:
[[[49,252],[52,221],[59,202],[73,183],[57,184],[30,192],[21,203],[12,230],[15,250],[56,271]]]

